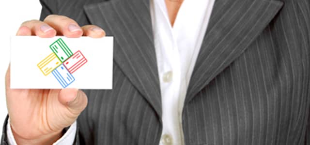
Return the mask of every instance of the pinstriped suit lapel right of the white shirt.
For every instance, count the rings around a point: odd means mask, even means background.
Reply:
[[[282,5],[279,0],[216,0],[185,103],[246,50]]]

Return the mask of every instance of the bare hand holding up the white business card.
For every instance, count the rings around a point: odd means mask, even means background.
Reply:
[[[80,28],[77,22],[65,16],[49,15],[43,22],[24,22],[16,35],[100,38],[105,32],[93,25]],[[87,105],[87,96],[78,89],[10,89],[10,67],[5,84],[7,108],[17,144],[53,144],[62,136],[63,128],[70,126]]]

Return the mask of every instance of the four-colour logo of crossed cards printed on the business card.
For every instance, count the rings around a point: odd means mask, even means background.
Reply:
[[[87,59],[80,51],[73,54],[61,38],[52,43],[49,48],[53,53],[39,62],[37,66],[44,75],[52,73],[63,88],[68,87],[75,81],[72,73],[82,67]]]

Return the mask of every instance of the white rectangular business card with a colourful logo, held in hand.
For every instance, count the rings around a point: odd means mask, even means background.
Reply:
[[[11,37],[11,88],[112,89],[113,37]]]

